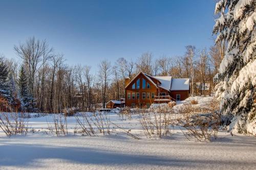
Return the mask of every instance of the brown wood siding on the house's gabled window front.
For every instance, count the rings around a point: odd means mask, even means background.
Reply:
[[[142,88],[142,78],[145,79],[146,83],[150,84],[150,88],[146,88],[143,89]],[[137,80],[140,79],[140,88],[136,89],[137,87]],[[133,84],[135,83],[135,89],[132,89]],[[145,92],[146,95],[146,99],[142,99],[142,93]],[[147,99],[147,93],[150,92],[150,99]],[[152,82],[148,81],[147,78],[143,75],[140,74],[136,79],[132,80],[131,84],[129,86],[126,87],[125,89],[125,106],[127,107],[132,107],[132,103],[135,104],[136,107],[146,107],[146,104],[152,104],[154,103],[154,99],[151,98],[151,93],[153,93],[156,95],[158,95],[158,92],[166,92],[166,95],[169,95],[169,92],[160,88],[158,89]],[[131,93],[131,99],[128,99],[127,93]],[[135,99],[132,99],[132,93],[135,93]],[[140,97],[139,99],[137,99],[137,94],[136,93],[140,93]]]

